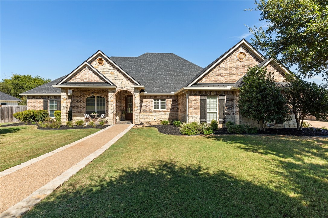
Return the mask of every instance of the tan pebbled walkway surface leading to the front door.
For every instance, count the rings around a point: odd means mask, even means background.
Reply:
[[[130,125],[115,125],[72,147],[0,178],[0,212],[47,184],[101,148]]]

